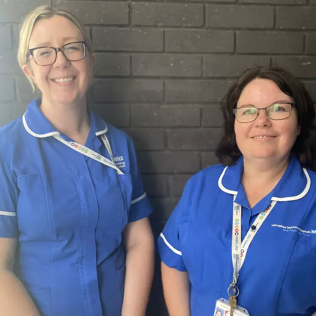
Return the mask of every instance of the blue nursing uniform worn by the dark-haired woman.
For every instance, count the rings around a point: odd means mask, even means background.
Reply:
[[[191,315],[213,315],[233,279],[233,199],[242,207],[242,239],[260,212],[277,200],[252,240],[237,286],[250,316],[298,316],[316,311],[316,173],[291,158],[281,180],[252,209],[241,183],[243,158],[206,168],[187,183],[158,248],[171,268],[187,271]]]

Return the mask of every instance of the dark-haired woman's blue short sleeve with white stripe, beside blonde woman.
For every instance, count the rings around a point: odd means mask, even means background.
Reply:
[[[190,182],[191,180],[186,184],[180,201],[158,237],[158,252],[161,260],[168,267],[179,271],[187,271],[182,258],[179,225],[187,222]]]

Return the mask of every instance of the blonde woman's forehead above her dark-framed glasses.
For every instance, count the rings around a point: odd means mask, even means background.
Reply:
[[[32,30],[29,47],[36,47],[43,43],[52,46],[62,46],[66,42],[83,40],[78,26],[61,15],[54,15],[49,19],[41,19]]]

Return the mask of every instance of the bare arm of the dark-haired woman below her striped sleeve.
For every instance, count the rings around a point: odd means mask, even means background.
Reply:
[[[190,281],[187,272],[161,262],[163,294],[170,316],[190,316]]]

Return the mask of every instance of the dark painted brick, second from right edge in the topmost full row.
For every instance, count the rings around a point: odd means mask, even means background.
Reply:
[[[273,28],[274,8],[259,5],[206,5],[206,25],[224,28]]]

